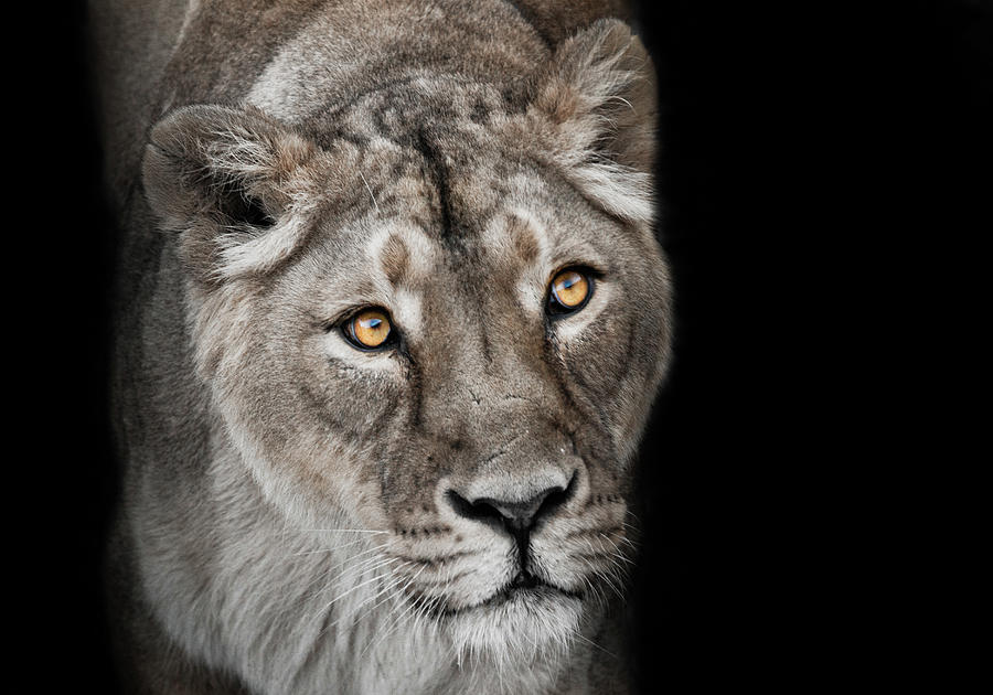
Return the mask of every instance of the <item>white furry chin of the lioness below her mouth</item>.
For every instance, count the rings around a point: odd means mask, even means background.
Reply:
[[[579,632],[584,601],[548,586],[512,589],[448,616],[459,661],[496,663],[564,656]]]

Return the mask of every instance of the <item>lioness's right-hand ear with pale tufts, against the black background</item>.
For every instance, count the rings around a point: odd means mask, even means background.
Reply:
[[[655,71],[627,24],[599,20],[559,44],[533,106],[579,190],[627,220],[652,218]]]

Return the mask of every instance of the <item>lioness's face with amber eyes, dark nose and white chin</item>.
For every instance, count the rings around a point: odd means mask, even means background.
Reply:
[[[274,170],[180,244],[201,373],[270,501],[300,528],[370,532],[396,600],[460,646],[554,649],[630,562],[664,261],[647,220],[516,141],[532,114],[515,125],[485,89],[451,110],[450,85],[444,100],[403,88],[333,131],[188,113],[159,128],[146,175],[197,119],[207,139],[237,120],[239,161]],[[227,142],[196,151],[216,164]],[[265,218],[225,237],[249,204]]]

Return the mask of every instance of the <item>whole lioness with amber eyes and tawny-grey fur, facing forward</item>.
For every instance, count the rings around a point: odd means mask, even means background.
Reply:
[[[595,4],[93,4],[131,691],[628,691],[671,290]]]

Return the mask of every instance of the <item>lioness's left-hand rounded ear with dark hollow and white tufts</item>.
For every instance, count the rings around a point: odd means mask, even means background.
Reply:
[[[257,109],[191,106],[157,124],[142,175],[195,279],[271,269],[302,240],[317,148]]]

